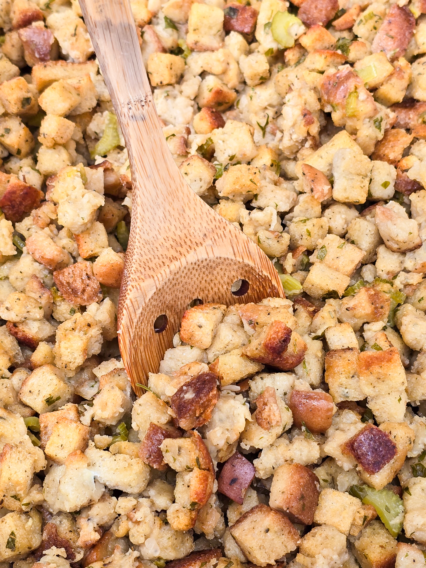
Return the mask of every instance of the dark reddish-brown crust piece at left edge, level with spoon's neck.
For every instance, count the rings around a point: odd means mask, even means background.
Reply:
[[[0,207],[6,219],[16,223],[36,209],[43,198],[43,191],[20,181],[16,176],[11,176],[6,191],[0,199]]]

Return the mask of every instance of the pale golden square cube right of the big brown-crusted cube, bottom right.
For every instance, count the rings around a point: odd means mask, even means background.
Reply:
[[[314,522],[332,525],[348,536],[355,513],[360,507],[360,499],[348,493],[325,488],[319,496]]]

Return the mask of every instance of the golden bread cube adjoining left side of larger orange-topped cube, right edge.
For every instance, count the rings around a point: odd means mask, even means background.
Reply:
[[[325,355],[325,382],[335,403],[365,397],[357,375],[358,353],[358,348],[346,348],[330,349]]]

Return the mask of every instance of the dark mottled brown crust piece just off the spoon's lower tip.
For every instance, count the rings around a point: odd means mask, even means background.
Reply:
[[[170,397],[174,421],[184,430],[206,424],[219,400],[218,375],[209,371],[192,377]]]

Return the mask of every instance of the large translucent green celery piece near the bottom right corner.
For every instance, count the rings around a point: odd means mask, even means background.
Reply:
[[[372,505],[391,535],[398,536],[404,522],[404,504],[398,495],[389,489],[378,490],[367,485],[353,485],[349,493],[365,505]]]

